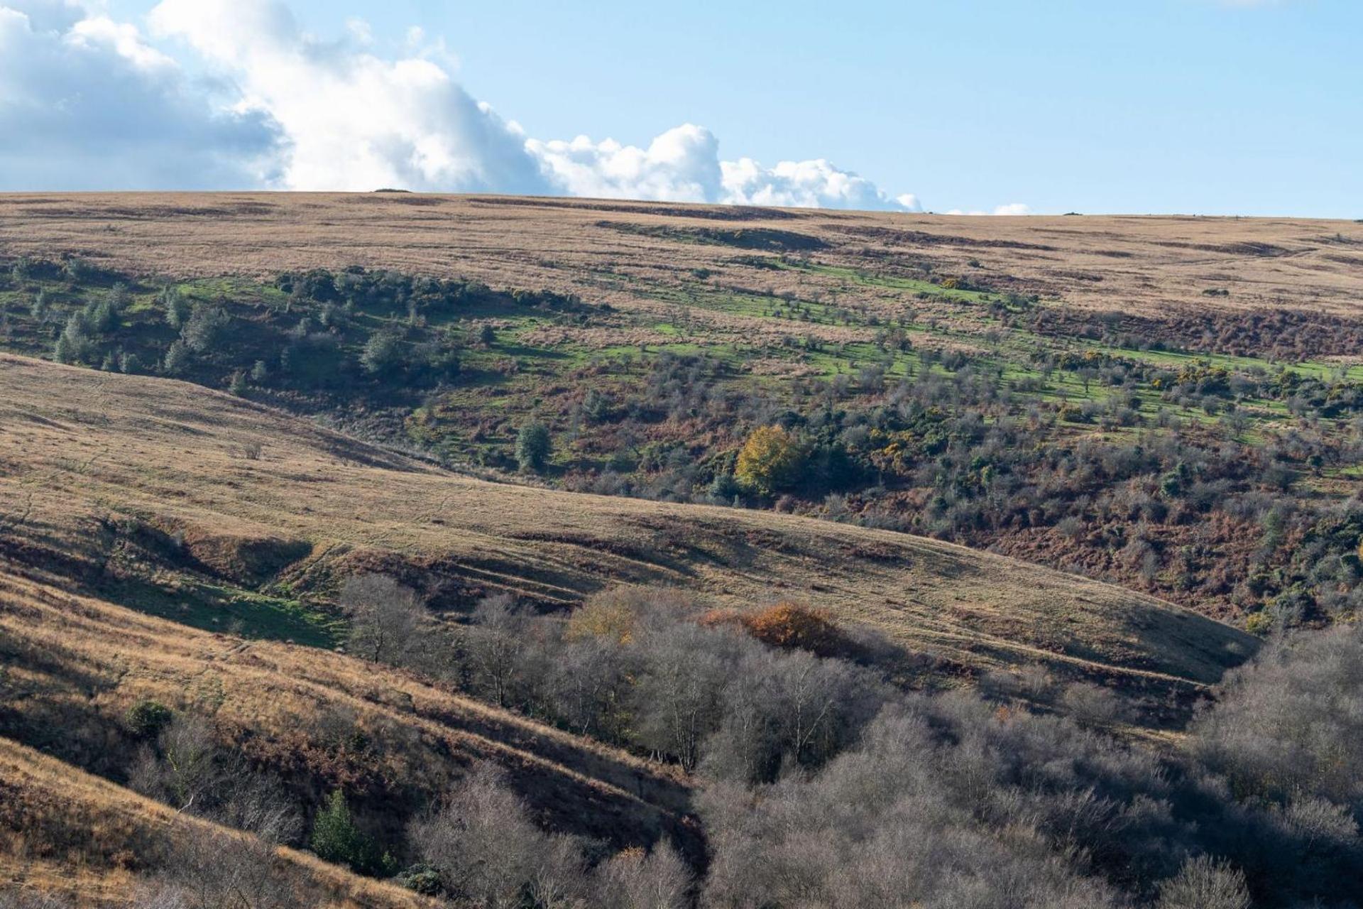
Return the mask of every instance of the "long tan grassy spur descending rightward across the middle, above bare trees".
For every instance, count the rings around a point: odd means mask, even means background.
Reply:
[[[795,598],[968,669],[1041,658],[1183,687],[1255,647],[1159,600],[1002,556],[792,515],[487,482],[179,382],[0,356],[0,546],[76,581],[136,572],[120,553],[151,527],[176,534],[177,557],[239,585],[241,552],[278,551],[300,553],[277,566],[285,585],[382,568],[417,578],[438,606],[499,589],[571,602],[620,583],[740,608]],[[240,454],[252,443],[258,458]],[[136,527],[120,530],[124,518]],[[120,601],[176,597],[168,582]]]

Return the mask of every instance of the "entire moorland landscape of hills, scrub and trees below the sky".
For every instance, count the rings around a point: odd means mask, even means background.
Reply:
[[[1360,240],[0,198],[0,905],[1351,905]]]

